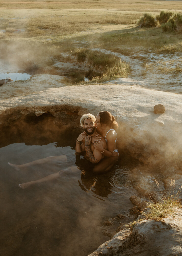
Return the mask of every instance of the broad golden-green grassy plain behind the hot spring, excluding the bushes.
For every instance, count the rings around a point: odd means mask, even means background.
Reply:
[[[100,61],[95,56],[102,49],[124,56],[135,55],[139,59],[141,54],[148,52],[156,55],[180,54],[181,33],[163,32],[160,26],[137,28],[136,24],[145,13],[154,17],[161,10],[181,13],[181,3],[135,0],[0,1],[0,57],[7,59],[9,56],[19,69],[31,74],[63,74],[72,77],[74,82],[82,81],[85,76],[89,79],[92,76],[106,78],[106,70],[114,67],[120,58],[115,56],[116,62],[113,62],[113,56],[102,53]],[[80,48],[87,51],[84,61],[74,55]],[[108,58],[110,60],[106,61]],[[83,68],[67,68],[61,72],[53,66],[57,61],[81,62],[83,67],[87,66],[87,72]],[[152,65],[149,63],[144,67],[151,70]],[[172,72],[169,67],[160,65],[158,69]],[[175,70],[181,72],[178,67]],[[123,76],[129,73],[128,69]]]

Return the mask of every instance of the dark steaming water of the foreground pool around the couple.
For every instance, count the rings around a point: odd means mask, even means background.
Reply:
[[[70,143],[71,145],[71,143]],[[63,172],[49,183],[21,189],[18,184],[40,179],[75,165],[74,150],[61,143],[27,146],[15,143],[0,148],[1,255],[85,256],[108,240],[102,225],[109,217],[127,214],[135,194],[127,180],[129,165],[93,176],[88,170]],[[50,155],[67,155],[68,162],[54,162],[15,170]]]

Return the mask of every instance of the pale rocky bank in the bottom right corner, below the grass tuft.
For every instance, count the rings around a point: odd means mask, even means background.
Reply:
[[[139,218],[139,217],[138,217]],[[182,211],[159,221],[142,219],[126,228],[88,256],[176,256],[182,255]]]

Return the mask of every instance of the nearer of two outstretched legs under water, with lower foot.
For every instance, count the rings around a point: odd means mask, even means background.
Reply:
[[[58,177],[60,177],[60,175],[62,174],[62,172],[73,172],[75,170],[78,170],[78,167],[76,167],[75,165],[72,165],[66,169],[63,169],[57,173],[53,173],[53,174],[50,174],[44,178],[41,178],[41,179],[37,179],[37,180],[33,180],[33,181],[30,181],[30,182],[26,182],[26,183],[22,183],[22,184],[19,184],[19,187],[20,188],[27,188],[27,187],[30,187],[31,185],[34,185],[34,184],[37,184],[37,183],[42,183],[42,182],[46,182],[46,181],[51,181],[51,180],[54,180],[54,179],[57,179]]]

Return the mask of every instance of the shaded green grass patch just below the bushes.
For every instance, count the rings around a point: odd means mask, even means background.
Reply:
[[[175,35],[175,36],[174,36]],[[92,37],[87,36],[86,40],[92,45]],[[181,52],[179,42],[181,35],[163,32],[159,27],[155,28],[128,28],[115,33],[104,33],[97,39],[97,47],[101,49],[112,50],[123,55],[132,55],[141,52],[154,51],[159,53],[168,48],[168,52]],[[172,47],[170,47],[170,45]]]

